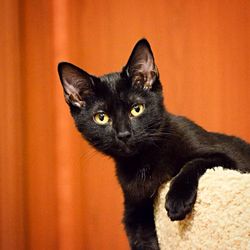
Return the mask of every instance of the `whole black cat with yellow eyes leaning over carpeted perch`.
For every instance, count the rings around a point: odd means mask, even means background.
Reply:
[[[249,144],[207,132],[166,111],[145,39],[136,44],[121,72],[95,77],[66,62],[58,65],[58,71],[78,130],[116,162],[131,249],[159,249],[153,203],[163,182],[174,177],[166,210],[171,220],[182,220],[191,211],[198,180],[208,168],[250,172]]]

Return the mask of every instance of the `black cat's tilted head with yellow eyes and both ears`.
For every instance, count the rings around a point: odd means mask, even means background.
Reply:
[[[137,42],[121,72],[96,77],[66,62],[58,71],[75,124],[96,149],[130,156],[159,139],[162,86],[147,40]]]

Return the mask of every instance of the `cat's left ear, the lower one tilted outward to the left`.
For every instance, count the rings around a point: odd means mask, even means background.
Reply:
[[[66,102],[79,108],[83,107],[84,99],[94,93],[94,77],[67,62],[58,64],[58,73]]]

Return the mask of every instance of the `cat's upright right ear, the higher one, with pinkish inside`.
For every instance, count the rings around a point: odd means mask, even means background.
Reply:
[[[152,88],[154,81],[158,78],[158,70],[146,39],[137,42],[124,70],[134,86],[142,86],[144,89]]]

